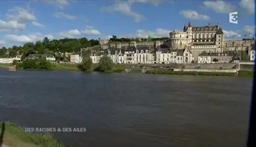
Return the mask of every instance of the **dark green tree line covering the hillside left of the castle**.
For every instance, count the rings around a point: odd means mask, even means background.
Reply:
[[[49,40],[44,37],[41,41],[35,43],[25,43],[23,46],[16,46],[6,48],[0,48],[0,57],[15,57],[16,55],[26,54],[27,52],[34,52],[38,54],[55,54],[55,53],[73,53],[79,52],[80,48],[93,47],[99,45],[100,41],[97,39],[88,40],[86,37],[80,39],[59,39]],[[59,56],[58,54],[56,56]],[[64,60],[63,57],[59,57],[60,60]]]

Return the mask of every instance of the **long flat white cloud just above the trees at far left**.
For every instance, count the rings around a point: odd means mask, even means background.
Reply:
[[[49,40],[52,40],[54,37],[52,35],[42,35],[40,33],[33,35],[6,35],[5,40],[9,43],[28,43],[43,40],[44,37],[48,37]]]

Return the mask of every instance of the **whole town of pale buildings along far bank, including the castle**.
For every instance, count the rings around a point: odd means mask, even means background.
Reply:
[[[95,41],[95,40],[93,40]],[[80,48],[78,52],[27,53],[26,58],[46,57],[52,62],[79,64],[82,61],[82,52],[90,50],[93,64],[97,64],[105,54],[114,64],[210,64],[229,63],[238,61],[254,61],[255,44],[252,39],[226,41],[220,24],[207,26],[192,26],[189,22],[184,25],[183,31],[170,32],[165,40],[134,40],[119,42],[115,40],[100,40],[100,45]],[[96,43],[94,43],[96,44]],[[36,44],[35,44],[36,45]],[[58,49],[57,49],[58,50]],[[80,50],[80,51],[79,51]],[[7,52],[8,53],[8,52]],[[10,64],[13,60],[20,61],[22,54],[15,57],[2,57],[0,63]]]

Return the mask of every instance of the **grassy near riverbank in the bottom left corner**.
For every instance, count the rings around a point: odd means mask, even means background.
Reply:
[[[0,127],[1,128],[1,127]],[[13,123],[6,123],[3,144],[19,147],[63,147],[64,145],[54,140],[51,135],[38,135],[25,132],[25,129]]]

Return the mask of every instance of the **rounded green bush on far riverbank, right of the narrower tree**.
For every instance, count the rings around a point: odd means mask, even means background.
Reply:
[[[107,55],[100,58],[100,63],[97,68],[98,72],[108,72],[113,67],[113,61]]]

